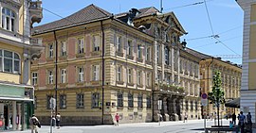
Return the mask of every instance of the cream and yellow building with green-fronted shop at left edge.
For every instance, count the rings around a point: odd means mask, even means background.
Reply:
[[[29,127],[33,113],[30,59],[43,48],[30,38],[30,27],[42,19],[41,1],[0,1],[0,132]]]

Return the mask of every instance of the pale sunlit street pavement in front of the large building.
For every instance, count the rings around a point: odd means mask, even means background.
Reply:
[[[217,124],[217,122],[216,122]],[[222,120],[220,124],[229,125],[229,120]],[[207,121],[207,126],[214,125],[214,121]],[[189,120],[188,123],[161,122],[95,126],[63,126],[60,129],[53,128],[53,133],[201,133],[204,131],[204,120]],[[26,131],[11,131],[11,133],[30,133]],[[42,126],[39,133],[49,133],[49,126]]]

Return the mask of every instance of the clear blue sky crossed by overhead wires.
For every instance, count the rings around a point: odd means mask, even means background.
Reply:
[[[90,4],[114,14],[131,8],[160,9],[160,0],[43,0],[44,18],[39,25],[60,20],[60,16],[66,17]],[[210,56],[228,55],[223,60],[242,63],[242,58],[236,57],[243,50],[244,12],[235,0],[162,0],[162,5],[163,13],[174,11],[188,32],[181,38],[188,47]]]

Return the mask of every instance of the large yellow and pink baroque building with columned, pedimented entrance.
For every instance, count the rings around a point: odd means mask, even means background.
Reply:
[[[48,124],[54,97],[63,125],[113,124],[116,113],[120,123],[199,118],[200,58],[183,34],[174,12],[153,7],[113,15],[90,5],[35,27],[46,47],[32,61],[36,115]]]

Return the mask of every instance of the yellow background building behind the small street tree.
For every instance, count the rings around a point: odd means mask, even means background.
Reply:
[[[242,68],[240,65],[233,64],[230,61],[223,61],[221,58],[213,58],[208,55],[199,53],[192,49],[187,48],[187,51],[192,55],[202,58],[200,61],[200,90],[201,93],[208,93],[212,90],[213,82],[212,77],[215,71],[221,73],[222,89],[225,91],[225,100],[229,102],[233,99],[240,97],[241,90],[241,77]],[[210,116],[215,115],[217,108],[214,108],[209,103],[207,106],[207,114]],[[238,108],[226,108],[225,105],[220,107],[220,114],[231,115],[233,112],[239,113]]]

